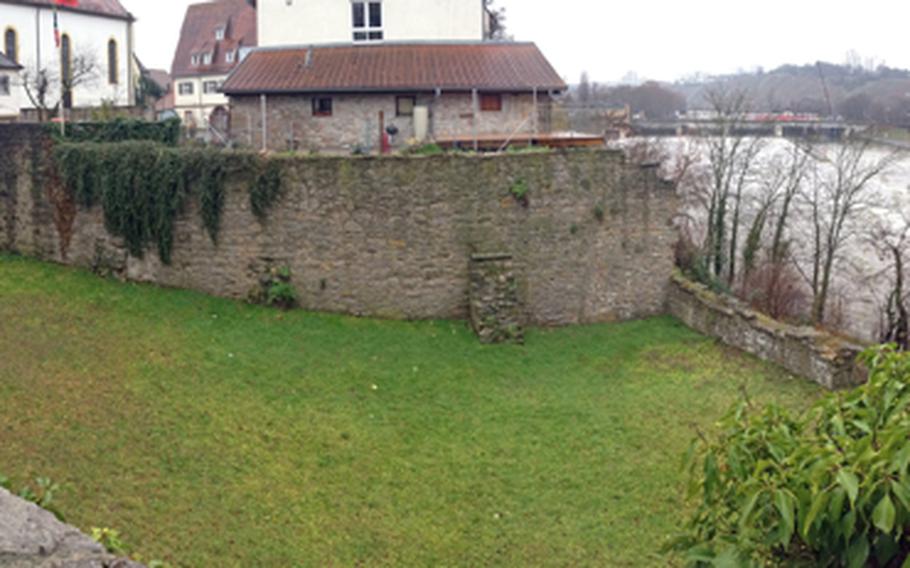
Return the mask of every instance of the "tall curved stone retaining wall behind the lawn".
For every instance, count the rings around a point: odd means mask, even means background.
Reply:
[[[676,193],[619,153],[273,158],[287,190],[265,222],[250,210],[250,175],[232,174],[217,244],[193,201],[164,265],[154,251],[128,255],[100,207],[75,208],[50,175],[29,173],[40,141],[6,132],[0,155],[18,175],[0,194],[0,245],[23,254],[232,298],[286,266],[304,308],[423,319],[466,318],[470,256],[503,252],[529,324],[665,311]]]

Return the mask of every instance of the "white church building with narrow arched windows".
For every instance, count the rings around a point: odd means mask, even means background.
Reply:
[[[43,71],[51,78],[47,106],[61,94],[70,108],[110,103],[131,106],[135,77],[133,16],[118,0],[80,0],[78,8],[59,7],[60,47],[54,38],[54,0],[0,0],[0,33],[6,57],[22,66],[20,80],[11,85],[12,99],[21,108],[34,108],[25,83]],[[61,81],[67,77],[67,81]],[[65,85],[71,85],[67,89]],[[11,112],[5,104],[4,110]]]

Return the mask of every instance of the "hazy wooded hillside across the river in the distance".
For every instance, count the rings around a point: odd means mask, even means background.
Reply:
[[[823,82],[824,80],[824,82]],[[784,65],[773,71],[713,77],[706,81],[668,85],[686,98],[690,109],[707,108],[704,94],[711,86],[742,89],[752,106],[764,112],[833,114],[848,120],[910,126],[910,71],[880,66],[818,63]],[[829,110],[825,85],[833,109]]]

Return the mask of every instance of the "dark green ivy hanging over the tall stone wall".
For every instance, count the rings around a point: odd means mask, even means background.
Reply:
[[[101,205],[105,226],[141,257],[155,246],[170,264],[177,216],[197,199],[212,242],[218,242],[228,175],[251,176],[250,205],[263,220],[284,186],[271,159],[210,148],[171,148],[148,141],[61,143],[53,160],[63,185],[84,209]]]

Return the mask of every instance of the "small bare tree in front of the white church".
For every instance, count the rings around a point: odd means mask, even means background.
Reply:
[[[56,59],[56,58],[54,58]],[[38,111],[38,120],[45,122],[64,102],[66,93],[77,87],[90,85],[98,79],[100,67],[92,52],[73,54],[64,71],[57,66],[32,66],[20,73],[20,81],[32,106]]]

